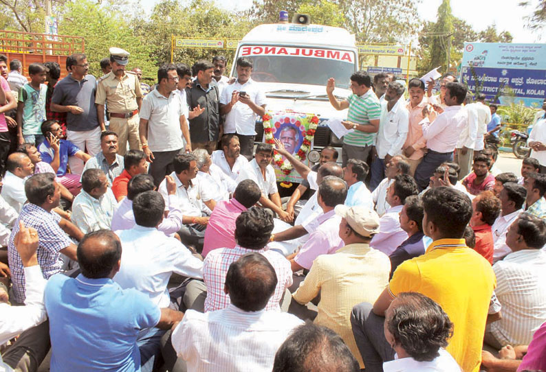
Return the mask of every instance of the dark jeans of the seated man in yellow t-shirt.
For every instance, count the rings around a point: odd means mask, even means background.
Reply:
[[[385,318],[373,314],[373,305],[363,302],[353,307],[351,327],[366,372],[383,372],[383,362],[394,360],[394,349],[386,342]]]

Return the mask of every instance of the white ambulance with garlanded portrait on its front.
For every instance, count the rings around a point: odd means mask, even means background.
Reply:
[[[318,128],[312,148],[334,146],[341,152],[341,141],[326,126],[332,117],[347,117],[329,103],[326,84],[336,79],[334,95],[342,100],[351,91],[350,78],[358,71],[358,49],[353,34],[339,27],[275,23],[254,27],[239,41],[231,75],[237,77],[235,61],[245,57],[254,63],[252,80],[261,84],[267,96],[266,110],[314,113]],[[256,142],[263,139],[261,118],[256,121]],[[312,163],[318,152],[309,152]],[[338,157],[341,160],[341,156]]]

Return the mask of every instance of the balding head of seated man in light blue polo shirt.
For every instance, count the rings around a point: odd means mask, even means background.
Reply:
[[[84,277],[113,278],[120,270],[121,243],[113,231],[94,231],[85,234],[76,255]]]

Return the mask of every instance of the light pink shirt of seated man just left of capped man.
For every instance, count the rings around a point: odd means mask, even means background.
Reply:
[[[345,246],[339,237],[341,217],[336,215],[334,210],[318,216],[316,220],[319,223],[316,231],[309,234],[309,240],[294,257],[296,264],[307,270],[311,268],[316,257],[336,253],[339,248]]]

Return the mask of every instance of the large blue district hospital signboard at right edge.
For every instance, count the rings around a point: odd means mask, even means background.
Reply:
[[[468,89],[495,103],[510,104],[512,97],[525,106],[541,106],[546,93],[546,44],[465,43],[461,80]]]

